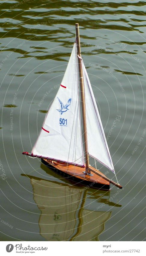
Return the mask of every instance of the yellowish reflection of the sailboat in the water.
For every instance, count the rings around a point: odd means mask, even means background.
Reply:
[[[59,175],[48,172],[43,165],[41,168],[49,173],[50,180],[22,175],[30,179],[34,201],[41,210],[42,237],[47,241],[99,241],[105,222],[111,217],[105,209],[109,192],[65,183],[66,179],[58,179]]]

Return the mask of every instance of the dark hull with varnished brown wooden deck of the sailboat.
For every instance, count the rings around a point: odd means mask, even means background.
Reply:
[[[102,190],[110,190],[110,183],[108,181],[102,177],[99,177],[97,174],[93,174],[93,176],[84,174],[83,172],[85,171],[85,168],[73,165],[67,166],[62,164],[55,164],[45,159],[41,159],[41,161],[52,171],[63,176],[64,178],[70,179],[77,185],[84,185],[87,188],[91,187]],[[97,170],[95,169],[95,171]],[[102,174],[101,172],[99,173]],[[102,175],[105,176],[104,174]]]

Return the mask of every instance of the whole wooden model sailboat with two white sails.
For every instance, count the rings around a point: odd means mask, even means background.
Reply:
[[[86,163],[81,135],[78,75]],[[57,95],[46,115],[32,153],[23,154],[41,158],[49,168],[78,183],[106,190],[110,189],[112,183],[122,188],[89,163],[91,156],[114,172],[93,90],[81,58],[78,23],[76,42]]]

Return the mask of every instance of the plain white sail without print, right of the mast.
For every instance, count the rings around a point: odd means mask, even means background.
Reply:
[[[88,153],[114,172],[114,166],[111,160],[96,100],[83,61],[82,68],[86,104]]]

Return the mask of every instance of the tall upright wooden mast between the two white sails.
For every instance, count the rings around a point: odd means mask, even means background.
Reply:
[[[84,128],[84,144],[85,144],[85,157],[86,157],[86,174],[90,174],[89,170],[89,154],[87,145],[87,126],[86,126],[86,110],[85,110],[85,95],[84,95],[84,80],[83,80],[83,70],[82,70],[82,60],[81,60],[81,47],[80,47],[80,34],[79,34],[79,24],[75,24],[76,29],[76,40],[77,40],[77,51],[80,58],[78,58],[79,64],[79,76],[80,76],[80,88],[81,88],[81,101],[82,101],[82,113],[83,113],[83,128]]]

